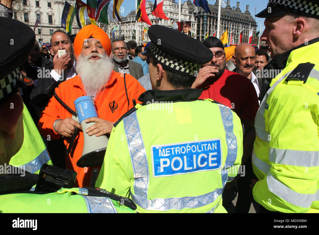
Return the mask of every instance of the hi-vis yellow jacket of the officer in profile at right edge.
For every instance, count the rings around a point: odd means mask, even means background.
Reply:
[[[271,211],[319,212],[319,50],[293,50],[256,114],[256,202]],[[310,42],[309,42],[310,43]]]

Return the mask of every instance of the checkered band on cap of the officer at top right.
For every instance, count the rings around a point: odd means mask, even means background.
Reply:
[[[319,18],[319,5],[305,0],[270,0],[268,7],[275,7],[300,14],[312,15]],[[288,9],[289,7],[290,9]]]

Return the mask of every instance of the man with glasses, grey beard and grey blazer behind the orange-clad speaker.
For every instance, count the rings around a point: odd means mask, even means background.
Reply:
[[[137,80],[144,76],[142,66],[128,59],[127,46],[122,39],[112,41],[112,54],[115,72],[130,74]]]

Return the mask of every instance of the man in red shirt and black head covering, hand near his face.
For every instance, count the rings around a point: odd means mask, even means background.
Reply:
[[[245,165],[245,168],[242,168],[241,173],[245,176],[247,173],[252,173],[252,169],[250,170],[250,168],[252,168],[251,153],[256,137],[254,122],[259,106],[258,97],[253,84],[248,78],[225,69],[226,56],[224,45],[218,38],[208,37],[203,41],[203,44],[211,49],[214,56],[211,62],[202,65],[192,88],[203,89],[203,92],[199,97],[200,99],[210,98],[218,101],[219,103],[233,109],[241,119],[245,131],[243,137],[243,156],[241,161],[241,164]],[[249,198],[250,179],[248,178],[250,178],[250,176],[247,175],[246,177],[240,178],[247,178],[247,180],[240,180],[245,181],[242,182],[245,189],[239,189],[237,202],[241,200],[241,198]],[[230,189],[233,186],[233,182],[235,183],[236,180],[232,181],[231,185],[228,185],[228,187],[226,185],[225,191],[227,191],[227,188]],[[223,193],[223,200],[224,198],[226,203],[226,195],[224,197]],[[231,201],[229,202],[229,205],[230,203]],[[248,206],[250,207],[250,203],[250,201],[247,201],[245,204],[246,208]],[[226,210],[227,206],[228,205],[225,205]]]

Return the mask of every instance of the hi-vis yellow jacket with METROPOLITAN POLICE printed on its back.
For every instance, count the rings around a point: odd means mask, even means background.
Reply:
[[[130,197],[139,213],[226,213],[221,194],[241,164],[239,117],[210,100],[158,105],[137,105],[115,125],[96,186]]]

